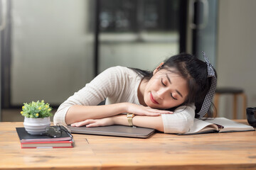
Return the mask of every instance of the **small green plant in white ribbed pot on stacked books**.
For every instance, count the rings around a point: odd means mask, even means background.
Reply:
[[[24,103],[22,106],[21,115],[24,118],[24,128],[31,135],[43,135],[47,126],[50,126],[50,108],[49,103],[44,101],[32,101],[31,103]]]

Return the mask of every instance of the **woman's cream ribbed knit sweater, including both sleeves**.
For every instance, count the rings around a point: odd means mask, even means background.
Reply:
[[[142,77],[127,67],[111,67],[99,74],[84,88],[70,96],[55,113],[54,123],[65,123],[65,115],[73,105],[95,106],[106,98],[106,105],[129,102],[140,105],[137,91]],[[164,132],[183,133],[193,125],[195,106],[181,106],[174,114],[162,114]]]

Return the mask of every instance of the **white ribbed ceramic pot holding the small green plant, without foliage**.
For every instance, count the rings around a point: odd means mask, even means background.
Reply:
[[[31,135],[43,135],[46,127],[50,126],[50,117],[48,118],[25,118],[24,128]]]

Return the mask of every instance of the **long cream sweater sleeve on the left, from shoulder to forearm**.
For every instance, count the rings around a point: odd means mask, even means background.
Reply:
[[[104,101],[105,98],[114,94],[119,89],[117,86],[119,74],[118,67],[111,67],[99,74],[89,84],[86,84],[84,88],[75,92],[73,96],[70,96],[60,105],[53,117],[53,123],[66,125],[65,115],[71,106],[96,106],[101,101]]]

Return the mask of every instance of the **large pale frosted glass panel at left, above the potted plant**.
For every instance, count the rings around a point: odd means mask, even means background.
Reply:
[[[12,105],[59,105],[93,78],[92,2],[12,1]]]

